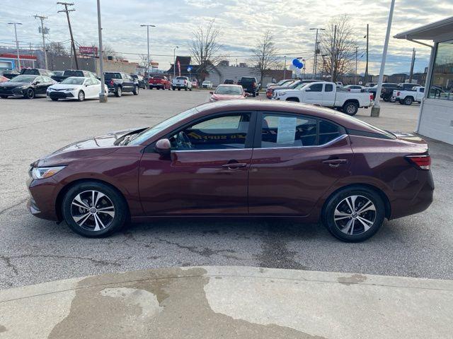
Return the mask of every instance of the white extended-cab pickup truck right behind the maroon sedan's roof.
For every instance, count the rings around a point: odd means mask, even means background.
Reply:
[[[359,107],[368,108],[373,105],[372,93],[349,92],[336,87],[336,83],[326,81],[307,83],[302,88],[294,90],[275,90],[273,99],[337,108],[348,115],[356,114]]]

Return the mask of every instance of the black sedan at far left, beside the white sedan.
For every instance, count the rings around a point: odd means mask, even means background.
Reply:
[[[53,85],[53,81],[48,76],[28,76],[21,74],[15,76],[10,81],[0,84],[0,97],[25,97],[33,99],[36,95],[46,95],[47,87]]]

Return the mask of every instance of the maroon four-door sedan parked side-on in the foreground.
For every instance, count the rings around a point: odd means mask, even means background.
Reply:
[[[291,217],[359,242],[432,202],[428,145],[310,105],[237,100],[68,145],[30,168],[33,215],[101,237],[127,220]]]

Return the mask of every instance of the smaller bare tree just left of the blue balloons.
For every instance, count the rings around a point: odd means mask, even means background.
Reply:
[[[261,41],[252,49],[253,57],[251,61],[253,67],[256,68],[257,73],[260,76],[260,83],[263,83],[263,78],[271,69],[277,68],[279,65],[278,62],[278,49],[275,47],[273,41],[273,35],[270,30],[266,30],[263,34]]]

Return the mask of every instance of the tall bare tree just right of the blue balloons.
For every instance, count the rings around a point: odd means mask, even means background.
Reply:
[[[351,21],[350,16],[346,14],[332,18],[328,21],[328,28],[321,38],[321,54],[326,57],[323,68],[326,73],[331,74],[333,59],[333,81],[337,81],[338,76],[352,71],[354,67],[356,42],[352,34]],[[334,35],[336,35],[335,46]]]

